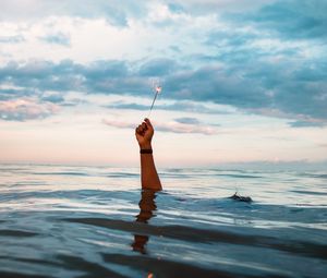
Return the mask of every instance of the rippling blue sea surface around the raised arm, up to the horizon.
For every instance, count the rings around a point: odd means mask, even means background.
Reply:
[[[327,172],[158,172],[0,165],[0,277],[327,277]]]

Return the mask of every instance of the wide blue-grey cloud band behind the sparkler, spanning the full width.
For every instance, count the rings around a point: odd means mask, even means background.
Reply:
[[[85,92],[87,94],[149,96],[150,78],[144,69],[158,64],[158,60],[131,62],[100,60],[78,64],[70,60],[59,63],[29,61],[24,64],[8,63],[0,68],[0,82],[12,83],[26,92]],[[169,63],[159,63],[162,69]],[[263,114],[279,111],[290,118],[327,120],[327,64],[320,59],[266,60],[244,58],[242,67],[234,61],[198,67],[196,69],[174,63],[174,70],[162,70],[165,99],[170,105],[156,109],[194,112],[214,112],[194,102],[215,102],[233,106],[240,110]],[[17,92],[19,93],[19,92]],[[5,92],[1,95],[9,95]],[[189,102],[187,102],[189,101]],[[193,101],[193,102],[192,102]],[[144,105],[113,104],[117,109],[148,109]],[[109,106],[109,107],[110,107]]]

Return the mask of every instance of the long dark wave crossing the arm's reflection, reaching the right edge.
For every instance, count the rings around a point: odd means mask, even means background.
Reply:
[[[107,218],[63,218],[63,221],[92,225],[113,230],[121,230],[137,234],[157,235],[191,242],[226,242],[258,247],[271,247],[280,251],[327,259],[327,245],[319,245],[303,241],[282,241],[265,235],[244,235],[227,231],[206,230],[186,226],[154,226],[142,222]]]

